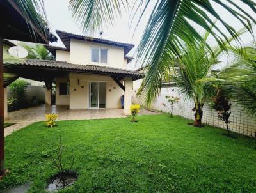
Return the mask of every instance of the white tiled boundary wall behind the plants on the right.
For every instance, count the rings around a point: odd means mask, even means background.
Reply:
[[[161,89],[161,95],[157,97],[156,101],[152,105],[152,109],[168,112],[168,107],[164,107],[163,105],[163,103],[168,104],[165,98],[166,95],[179,96],[177,93],[177,88],[163,87]],[[174,105],[173,114],[194,120],[194,113],[191,110],[193,107],[195,107],[194,102],[192,100],[186,101],[184,98],[182,98],[182,96],[179,97],[180,101]],[[136,90],[133,91],[133,102],[141,104],[140,99],[136,97]],[[212,125],[214,127],[226,128],[225,123],[216,117],[217,112],[214,111],[214,109],[211,109],[208,105],[205,105],[203,111],[203,123],[207,123],[208,125]],[[256,118],[252,118],[252,116],[246,114],[244,111],[241,111],[240,107],[234,103],[232,103],[230,111],[230,121],[232,121],[232,123],[230,123],[230,130],[254,137],[256,132]]]

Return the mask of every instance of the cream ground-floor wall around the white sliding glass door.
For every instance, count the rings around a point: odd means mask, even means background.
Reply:
[[[70,109],[89,108],[89,82],[106,82],[106,109],[121,108],[124,91],[109,76],[70,73]],[[78,85],[78,80],[80,84]]]

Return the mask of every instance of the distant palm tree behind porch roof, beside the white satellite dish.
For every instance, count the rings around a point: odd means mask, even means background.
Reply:
[[[28,56],[26,57],[28,59],[54,60],[54,56],[42,44],[36,44],[35,46],[22,44],[22,47],[28,50]]]

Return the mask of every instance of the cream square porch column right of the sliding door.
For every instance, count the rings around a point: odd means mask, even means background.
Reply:
[[[125,77],[124,78],[124,114],[130,115],[130,107],[132,104],[132,78]]]

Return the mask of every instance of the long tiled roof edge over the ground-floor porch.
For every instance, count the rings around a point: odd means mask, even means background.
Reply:
[[[24,61],[4,61],[4,67],[40,68],[44,70],[64,70],[66,72],[96,73],[102,75],[118,75],[119,77],[132,77],[133,80],[141,79],[142,73],[120,68],[110,68],[98,65],[76,65],[61,61],[48,61],[27,59]]]

